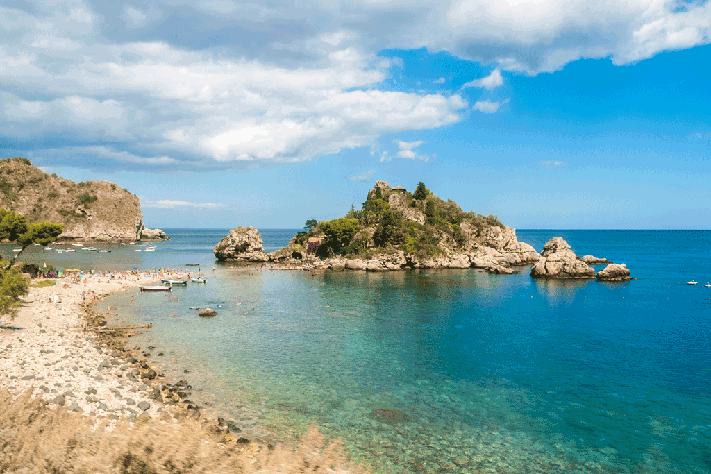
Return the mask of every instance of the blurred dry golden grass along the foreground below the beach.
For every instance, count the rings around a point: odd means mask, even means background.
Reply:
[[[64,409],[48,409],[31,392],[0,404],[0,473],[20,474],[193,474],[363,473],[341,443],[324,446],[311,427],[294,450],[241,445],[218,436],[194,419],[179,423],[122,420],[113,429],[92,429],[92,420]],[[222,442],[220,442],[222,441]]]

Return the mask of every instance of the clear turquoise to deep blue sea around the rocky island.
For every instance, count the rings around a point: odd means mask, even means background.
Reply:
[[[101,304],[117,308],[112,324],[153,323],[127,345],[246,438],[296,443],[314,424],[375,473],[711,473],[711,231],[517,231],[538,251],[560,236],[625,263],[624,283],[532,279],[529,267],[235,269],[212,253],[228,231],[166,230],[155,252],[35,246],[20,259],[198,264],[207,283],[172,299],[132,290]],[[297,230],[260,232],[269,252]]]

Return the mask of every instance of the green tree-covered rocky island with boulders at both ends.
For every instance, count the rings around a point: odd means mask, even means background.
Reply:
[[[220,261],[286,262],[335,271],[481,268],[513,274],[533,264],[531,276],[557,279],[595,278],[589,264],[611,263],[592,256],[581,259],[561,237],[550,239],[539,254],[494,215],[464,212],[424,183],[408,193],[385,181],[375,183],[360,210],[353,207],[339,219],[308,221],[284,249],[267,254],[259,231],[237,227],[215,246],[214,254]],[[629,279],[624,265],[622,270],[610,267],[597,278]]]

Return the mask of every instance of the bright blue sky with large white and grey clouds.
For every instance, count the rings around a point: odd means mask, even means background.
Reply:
[[[711,228],[711,1],[0,1],[0,155],[146,227],[375,181],[522,229]]]

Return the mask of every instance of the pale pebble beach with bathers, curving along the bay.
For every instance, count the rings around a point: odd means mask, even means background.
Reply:
[[[16,317],[0,318],[19,328],[0,329],[0,388],[11,394],[32,389],[50,404],[98,417],[164,411],[151,388],[160,377],[141,379],[146,371],[140,362],[130,364],[124,352],[107,349],[85,321],[87,306],[103,296],[151,283],[151,276],[87,276],[78,283],[65,277],[54,286],[31,287]]]

